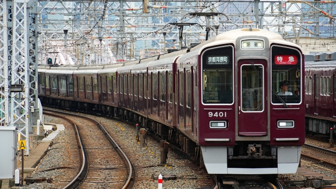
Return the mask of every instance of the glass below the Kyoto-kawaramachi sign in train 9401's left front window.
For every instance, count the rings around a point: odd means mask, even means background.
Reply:
[[[232,104],[232,69],[203,70],[203,103]]]

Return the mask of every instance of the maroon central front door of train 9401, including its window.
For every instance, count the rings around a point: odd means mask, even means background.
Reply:
[[[238,61],[238,135],[267,135],[267,62]]]

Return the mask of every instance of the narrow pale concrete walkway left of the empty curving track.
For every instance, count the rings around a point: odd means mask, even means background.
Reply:
[[[52,124],[52,123],[48,123]],[[29,156],[25,157],[23,161],[23,177],[26,178],[29,173],[32,173],[35,171],[36,166],[39,164],[41,159],[44,156],[44,152],[48,150],[48,147],[51,143],[51,141],[58,135],[60,131],[63,131],[65,129],[64,125],[62,124],[52,124],[57,127],[57,129],[53,132],[51,132],[47,137],[42,139],[40,141],[39,145],[37,148],[30,152]],[[22,174],[22,164],[17,165],[17,169],[20,170],[20,177]],[[0,186],[0,189],[8,189],[8,182],[4,182],[5,180],[2,181],[2,186]],[[24,183],[25,185],[25,183]],[[12,187],[12,188],[17,188],[17,187]]]

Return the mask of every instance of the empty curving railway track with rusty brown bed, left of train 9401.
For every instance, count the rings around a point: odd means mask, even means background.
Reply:
[[[133,166],[99,122],[72,113],[53,110],[43,110],[43,113],[71,122],[78,137],[81,151],[78,174],[69,178],[71,181],[63,189],[132,188]]]

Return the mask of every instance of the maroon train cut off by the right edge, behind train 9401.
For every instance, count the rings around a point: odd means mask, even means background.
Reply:
[[[331,128],[336,129],[336,52],[306,58],[306,130],[330,134]]]

